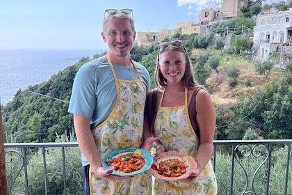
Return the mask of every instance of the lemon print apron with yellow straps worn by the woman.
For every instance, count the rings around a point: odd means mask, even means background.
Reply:
[[[184,93],[185,104],[179,107],[161,107],[163,96],[164,91],[154,123],[156,137],[159,137],[167,151],[178,151],[195,157],[200,142],[188,116],[188,88],[185,88]],[[214,195],[217,194],[217,182],[209,162],[193,183],[155,178],[153,189],[156,195]]]

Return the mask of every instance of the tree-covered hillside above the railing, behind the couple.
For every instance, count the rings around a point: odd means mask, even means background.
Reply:
[[[234,19],[229,22],[237,26],[242,21]],[[216,139],[243,139],[249,127],[256,129],[263,139],[292,138],[291,134],[283,133],[291,124],[286,119],[291,115],[288,107],[292,101],[290,63],[287,64],[289,71],[285,72],[275,68],[273,61],[252,61],[249,56],[251,45],[245,37],[232,39],[231,47],[238,49],[221,50],[222,47],[216,47],[215,42],[222,38],[216,38],[213,33],[176,36],[184,38],[195,79],[213,95],[218,116]],[[202,49],[204,47],[206,49]],[[159,45],[154,44],[135,46],[131,50],[133,59],[140,61],[149,71],[151,88],[155,87],[153,77],[158,49]],[[104,54],[96,54],[94,58]],[[72,114],[67,113],[67,108],[76,72],[88,61],[88,57],[83,57],[78,63],[52,75],[48,81],[17,91],[14,99],[2,109],[5,141],[51,142],[56,140],[56,134],[74,132]],[[281,116],[271,117],[271,113]],[[275,117],[285,119],[288,124],[273,126],[277,120]]]

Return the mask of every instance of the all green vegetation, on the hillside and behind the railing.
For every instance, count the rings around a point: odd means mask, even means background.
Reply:
[[[252,47],[248,36],[241,34],[243,26],[252,29],[254,21],[248,18],[234,18],[228,22],[220,22],[214,26],[214,31],[221,36],[209,35],[175,35],[184,40],[184,45],[193,63],[195,79],[204,85],[213,97],[216,106],[216,137],[215,139],[292,139],[292,73],[291,63],[286,70],[275,68],[275,62],[258,63],[250,58]],[[229,28],[233,31],[231,49],[224,48],[224,38]],[[243,37],[242,37],[243,36]],[[154,70],[158,44],[150,47],[135,46],[131,56],[147,68],[151,76],[151,88],[154,84]],[[96,54],[94,58],[104,54]],[[6,143],[76,141],[72,114],[67,113],[71,88],[76,72],[81,65],[90,61],[83,57],[80,61],[65,70],[52,75],[48,81],[19,90],[12,101],[2,107],[4,139]],[[268,77],[266,77],[268,75]],[[58,137],[57,135],[62,135]],[[66,136],[65,136],[66,135]],[[81,190],[81,160],[79,148],[67,148],[66,177],[68,194],[82,194]],[[259,148],[262,150],[262,148]],[[218,178],[218,194],[229,194],[230,178],[230,148],[216,151],[216,175]],[[284,182],[285,159],[282,158],[286,148],[273,148],[273,166],[271,167],[270,192],[277,194]],[[47,152],[47,169],[49,172],[49,194],[62,194],[62,171],[60,170],[59,149]],[[43,194],[43,176],[40,163],[40,150],[29,151],[28,170],[30,180],[29,194]],[[275,153],[275,155],[274,155]],[[263,162],[262,157],[254,159],[240,157],[238,163],[248,166],[248,175]],[[237,164],[238,165],[238,164]],[[291,164],[290,164],[291,166]],[[19,167],[8,166],[8,184],[13,183],[13,176]],[[241,192],[245,178],[241,166],[236,166],[234,189]],[[259,171],[256,188],[259,194],[264,194],[263,179],[266,173]],[[24,176],[19,176],[13,193],[23,192]],[[76,185],[78,184],[78,185]],[[289,183],[290,191],[292,184]],[[17,192],[17,193],[16,193]]]

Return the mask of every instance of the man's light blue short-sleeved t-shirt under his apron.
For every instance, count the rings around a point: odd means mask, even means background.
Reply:
[[[149,72],[143,65],[136,62],[133,63],[148,93],[150,88]],[[129,66],[113,64],[113,68],[117,79],[138,79],[136,71],[130,64]],[[102,123],[111,114],[116,98],[113,72],[105,56],[102,56],[85,63],[77,72],[68,112],[91,118],[90,127],[93,128]],[[88,161],[83,156],[82,165],[88,165]]]

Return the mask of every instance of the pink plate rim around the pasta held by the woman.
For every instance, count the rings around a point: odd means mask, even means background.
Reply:
[[[159,162],[168,160],[168,159],[173,159],[173,158],[179,159],[179,161],[184,162],[184,164],[188,166],[186,168],[186,173],[184,173],[183,175],[179,177],[165,177],[165,176],[161,176],[155,169],[153,169],[153,166],[156,166],[156,167],[159,166]],[[156,155],[154,157],[153,166],[150,167],[149,169],[149,172],[152,174],[152,176],[154,176],[155,178],[162,179],[162,180],[171,181],[171,180],[181,180],[184,178],[188,178],[188,176],[190,176],[188,171],[195,170],[197,168],[197,162],[195,162],[195,159],[193,157],[191,157],[190,155],[186,153],[171,151],[171,152],[165,152],[165,153],[160,153],[159,155]]]

